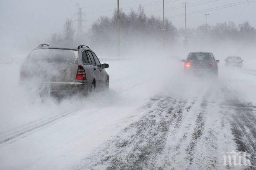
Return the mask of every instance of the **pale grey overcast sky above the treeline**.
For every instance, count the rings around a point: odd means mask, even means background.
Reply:
[[[187,27],[205,24],[205,13],[210,14],[208,16],[210,25],[223,21],[234,21],[236,24],[249,21],[256,27],[256,2],[254,1],[165,0],[165,17],[180,28],[185,25],[185,17],[173,18],[172,16],[184,14],[185,8],[182,2],[189,2],[187,14],[233,4],[237,6],[188,15]],[[123,11],[130,12],[130,8],[137,10],[138,5],[141,4],[147,15],[162,17],[161,2],[161,0],[120,0],[120,7]],[[240,3],[237,2],[246,4],[239,5]],[[190,5],[192,6],[189,7]],[[77,7],[83,7],[83,12],[86,14],[84,26],[88,29],[100,15],[111,17],[116,6],[117,0],[0,0],[0,38],[2,41],[18,41],[31,37],[47,38],[50,34],[61,31],[67,18],[76,19],[77,15],[74,14],[78,10]]]

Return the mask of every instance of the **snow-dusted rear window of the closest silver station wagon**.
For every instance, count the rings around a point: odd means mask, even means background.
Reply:
[[[75,63],[77,58],[77,51],[65,49],[36,49],[28,56],[28,59],[31,61],[46,61],[54,63]]]

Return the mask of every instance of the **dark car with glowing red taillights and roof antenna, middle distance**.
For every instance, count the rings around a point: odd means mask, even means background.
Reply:
[[[191,52],[187,59],[182,59],[186,73],[196,75],[214,75],[218,76],[218,64],[220,61],[215,60],[213,53],[209,52]]]

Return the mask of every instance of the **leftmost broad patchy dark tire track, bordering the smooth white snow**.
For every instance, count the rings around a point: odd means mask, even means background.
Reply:
[[[154,160],[166,144],[169,127],[180,121],[186,101],[171,97],[151,100],[152,110],[83,160],[78,169],[153,169]]]

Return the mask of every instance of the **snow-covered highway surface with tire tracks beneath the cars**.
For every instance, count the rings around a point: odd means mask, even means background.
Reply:
[[[166,60],[110,61],[107,92],[61,102],[27,95],[20,65],[2,64],[0,169],[255,170],[255,60],[222,60],[218,78]],[[224,165],[232,151],[251,165]]]

